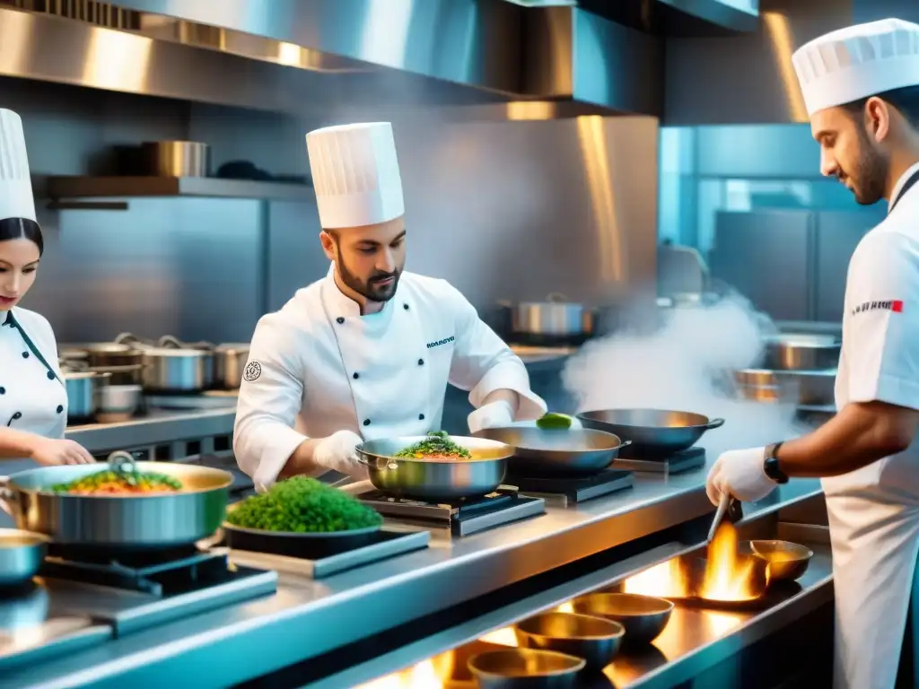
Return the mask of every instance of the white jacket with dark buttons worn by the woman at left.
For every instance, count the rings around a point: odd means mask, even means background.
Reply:
[[[51,324],[39,313],[0,311],[0,424],[60,439],[67,390]]]

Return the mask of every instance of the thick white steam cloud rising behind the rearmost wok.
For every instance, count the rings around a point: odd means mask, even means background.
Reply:
[[[763,336],[776,332],[765,314],[730,294],[710,306],[673,309],[651,335],[627,331],[585,344],[562,382],[578,412],[650,408],[725,419],[699,443],[711,459],[806,431],[795,422],[793,401],[745,401],[733,388],[732,369],[755,367]]]

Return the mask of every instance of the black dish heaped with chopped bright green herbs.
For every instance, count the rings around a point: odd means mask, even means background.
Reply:
[[[223,532],[231,548],[315,559],[373,540],[382,524],[345,491],[295,476],[231,505]]]

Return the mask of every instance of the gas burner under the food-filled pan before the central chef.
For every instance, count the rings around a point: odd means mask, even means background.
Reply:
[[[444,526],[453,536],[470,536],[546,511],[546,503],[541,498],[518,495],[516,491],[505,489],[453,504],[401,500],[380,491],[368,491],[357,497],[383,516],[400,522]]]

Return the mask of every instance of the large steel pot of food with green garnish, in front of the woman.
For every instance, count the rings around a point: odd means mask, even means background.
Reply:
[[[63,545],[173,548],[223,522],[233,475],[176,462],[135,462],[114,452],[99,464],[40,467],[0,478],[0,501],[20,529]]]

